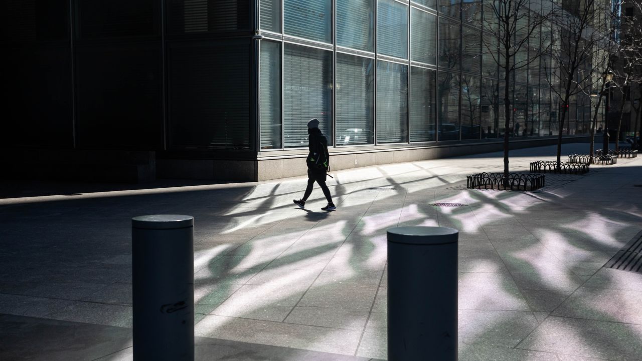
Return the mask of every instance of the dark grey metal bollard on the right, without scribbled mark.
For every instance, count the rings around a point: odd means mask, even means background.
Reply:
[[[457,239],[445,227],[388,230],[388,360],[457,360]]]

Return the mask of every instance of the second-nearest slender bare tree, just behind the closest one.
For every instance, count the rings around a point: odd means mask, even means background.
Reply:
[[[608,44],[610,51],[606,55],[607,64],[614,51],[615,45],[610,38],[613,22],[609,9],[607,3],[600,0],[569,1],[553,17],[552,55],[555,68],[559,71],[551,72],[548,80],[551,89],[560,99],[557,169],[560,169],[562,135],[569,100],[578,94],[590,94],[598,85],[601,77],[596,77],[593,71],[598,65],[593,63],[596,51],[604,49]],[[559,87],[555,86],[557,83]],[[592,135],[593,131],[594,129],[591,131]]]

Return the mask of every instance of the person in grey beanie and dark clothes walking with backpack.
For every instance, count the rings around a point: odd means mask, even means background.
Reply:
[[[306,158],[306,164],[308,165],[308,187],[301,199],[298,201],[294,199],[294,204],[300,208],[305,208],[306,201],[312,193],[312,187],[316,181],[319,187],[321,187],[321,190],[323,190],[325,199],[327,199],[327,206],[324,206],[321,210],[335,210],[336,206],[332,203],[330,190],[327,188],[327,185],[325,185],[325,174],[330,169],[327,139],[319,129],[319,121],[317,118],[308,121],[308,134],[309,153],[308,158]]]

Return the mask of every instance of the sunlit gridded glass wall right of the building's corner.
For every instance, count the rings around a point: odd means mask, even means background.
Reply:
[[[556,135],[552,27],[530,37],[505,84],[490,4],[259,0],[261,149],[306,147],[313,117],[333,146]],[[565,133],[586,133],[585,103],[569,104]]]

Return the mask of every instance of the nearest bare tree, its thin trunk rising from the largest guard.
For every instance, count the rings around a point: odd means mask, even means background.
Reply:
[[[531,3],[537,4],[537,8]],[[551,17],[553,11],[548,6],[542,6],[548,1],[530,0],[495,0],[485,3],[483,26],[486,31],[495,33],[497,38],[483,38],[483,52],[492,57],[503,75],[504,87],[504,186],[508,186],[508,142],[510,139],[510,84],[515,72],[528,67],[548,49],[542,49],[542,44],[532,44],[539,49],[533,56],[523,56],[528,53],[529,39],[538,38],[541,24]]]

